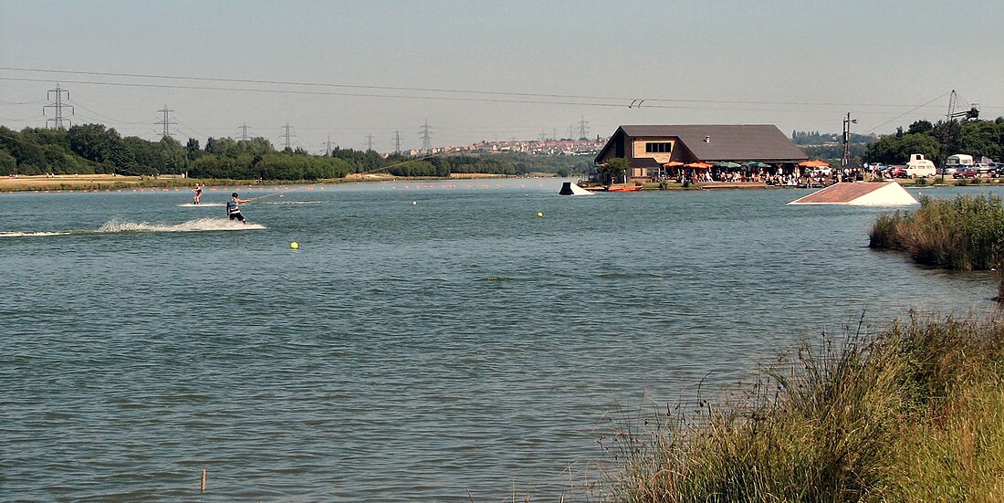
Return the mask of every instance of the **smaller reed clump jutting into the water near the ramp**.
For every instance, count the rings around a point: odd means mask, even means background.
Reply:
[[[1004,206],[999,196],[922,197],[914,212],[880,216],[868,246],[903,250],[915,261],[937,267],[991,269],[1004,252]]]

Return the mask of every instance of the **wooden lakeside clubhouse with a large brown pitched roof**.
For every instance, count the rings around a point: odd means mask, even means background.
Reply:
[[[773,124],[621,125],[595,162],[615,158],[628,160],[631,168],[626,178],[632,180],[652,180],[677,172],[678,168],[668,169],[667,164],[763,163],[770,166],[768,171],[776,172],[794,169],[808,160]]]

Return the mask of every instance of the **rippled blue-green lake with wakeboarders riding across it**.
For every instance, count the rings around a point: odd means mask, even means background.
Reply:
[[[0,194],[0,501],[584,501],[630,411],[995,310],[869,250],[884,209],[560,187],[243,187],[249,226],[233,187]]]

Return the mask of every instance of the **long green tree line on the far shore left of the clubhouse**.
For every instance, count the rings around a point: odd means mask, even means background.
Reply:
[[[121,137],[113,128],[90,123],[68,130],[0,127],[0,176],[118,174],[183,175],[232,180],[320,180],[353,173],[390,173],[397,177],[448,177],[451,174],[527,175],[552,173],[566,177],[588,173],[592,158],[524,154],[437,155],[413,158],[381,156],[373,151],[334,149],[315,156],[302,149],[277,151],[263,138],[196,139],[185,145],[171,137],[150,142]]]

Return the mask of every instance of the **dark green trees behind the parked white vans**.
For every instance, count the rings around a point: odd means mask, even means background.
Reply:
[[[862,161],[887,165],[906,164],[911,154],[924,154],[942,166],[955,154],[968,154],[1004,161],[1004,117],[994,120],[918,120],[907,131],[898,129],[868,144]]]

